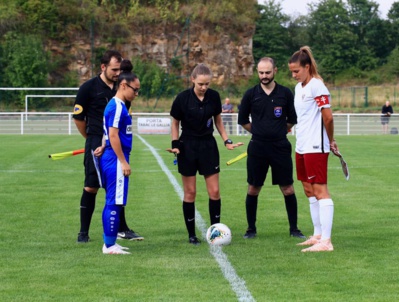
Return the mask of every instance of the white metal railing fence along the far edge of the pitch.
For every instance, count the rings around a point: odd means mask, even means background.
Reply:
[[[334,114],[336,135],[377,135],[383,134],[380,114]],[[168,113],[133,113],[133,132],[138,132],[138,118],[169,118]],[[229,119],[230,117],[230,119]],[[223,114],[227,133],[248,135],[237,125],[237,113]],[[229,121],[231,120],[231,128]],[[392,128],[399,129],[399,115],[390,118],[389,133]],[[292,134],[295,133],[295,127]],[[72,119],[72,113],[66,112],[0,112],[0,134],[79,134]]]

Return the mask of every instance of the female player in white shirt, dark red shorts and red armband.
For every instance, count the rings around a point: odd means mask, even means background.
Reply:
[[[317,71],[308,46],[301,47],[289,60],[295,87],[297,178],[310,203],[313,236],[298,245],[311,245],[302,252],[333,251],[331,229],[334,203],[327,188],[327,163],[330,150],[338,152],[330,92]]]

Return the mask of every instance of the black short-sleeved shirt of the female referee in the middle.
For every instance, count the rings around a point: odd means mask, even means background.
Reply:
[[[208,89],[202,102],[194,88],[179,93],[173,101],[170,115],[181,122],[182,137],[213,135],[213,117],[222,112],[222,101],[217,91]]]

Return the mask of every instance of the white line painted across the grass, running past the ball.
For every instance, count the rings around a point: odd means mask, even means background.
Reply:
[[[148,147],[148,149],[151,151],[151,153],[158,161],[158,164],[161,167],[162,171],[164,171],[166,176],[169,178],[169,181],[173,185],[173,188],[175,189],[180,200],[183,200],[183,195],[184,195],[183,189],[181,188],[179,182],[176,180],[176,177],[174,177],[172,172],[170,172],[168,167],[165,165],[165,162],[163,161],[162,157],[157,153],[154,147],[152,147],[149,143],[147,143],[147,141],[144,138],[142,138],[138,134],[135,136],[138,137],[143,142],[143,144],[145,144]],[[195,222],[197,228],[201,231],[202,237],[206,238],[207,226],[201,214],[197,210],[195,211]],[[217,261],[217,263],[219,264],[225,279],[230,283],[230,286],[235,292],[238,301],[242,302],[255,301],[255,299],[252,297],[251,293],[245,286],[245,281],[237,275],[234,267],[227,259],[227,255],[223,253],[222,248],[220,246],[211,246],[210,252]]]

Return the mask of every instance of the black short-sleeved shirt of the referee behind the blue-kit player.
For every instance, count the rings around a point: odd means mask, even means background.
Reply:
[[[86,120],[88,135],[103,135],[103,115],[108,102],[115,96],[116,88],[109,88],[100,76],[83,83],[76,95],[73,118]]]

